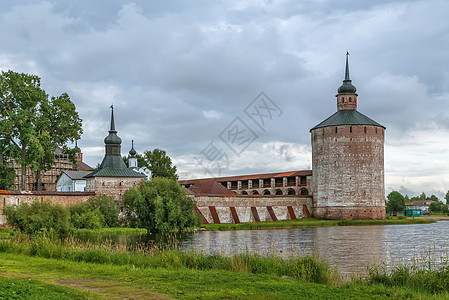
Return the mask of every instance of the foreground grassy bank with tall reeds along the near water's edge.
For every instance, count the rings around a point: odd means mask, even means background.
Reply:
[[[225,257],[157,247],[130,253],[45,236],[0,241],[0,298],[39,291],[41,299],[449,299],[449,264],[373,267],[344,281],[314,256]]]

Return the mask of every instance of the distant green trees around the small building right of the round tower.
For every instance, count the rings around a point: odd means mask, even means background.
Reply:
[[[449,203],[449,191],[447,191],[444,198],[446,200],[446,203]],[[424,200],[432,201],[429,206],[430,212],[443,212],[443,213],[449,212],[448,205],[446,203],[443,203],[435,195],[427,196],[425,193],[421,193],[419,196],[409,198],[408,195],[403,196],[398,191],[392,191],[391,193],[388,194],[386,201],[386,209],[387,212],[389,212],[390,214],[396,214],[405,209],[405,204],[407,202],[424,201]]]

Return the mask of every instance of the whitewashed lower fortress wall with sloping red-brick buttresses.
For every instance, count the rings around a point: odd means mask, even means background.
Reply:
[[[254,212],[257,212],[260,221],[272,221],[269,212],[272,212],[277,220],[291,219],[288,207],[292,207],[296,218],[303,218],[304,205],[309,212],[312,211],[311,196],[261,196],[261,197],[243,197],[243,196],[220,196],[220,195],[202,195],[195,196],[196,206],[208,223],[215,223],[213,214],[216,212],[220,223],[235,223],[232,216],[231,207],[235,209],[238,220],[243,222],[256,222]],[[254,209],[252,209],[254,208]]]

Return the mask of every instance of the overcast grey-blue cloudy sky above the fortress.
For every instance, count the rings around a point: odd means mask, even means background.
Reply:
[[[131,140],[164,149],[186,179],[310,169],[309,130],[336,111],[348,49],[358,110],[387,127],[386,193],[441,198],[448,13],[436,0],[0,0],[0,69],[70,95],[91,166],[113,103],[122,154]]]

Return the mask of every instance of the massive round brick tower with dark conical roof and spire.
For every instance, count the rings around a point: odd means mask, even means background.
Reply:
[[[337,112],[310,130],[313,216],[385,219],[385,127],[357,111],[348,55]]]

